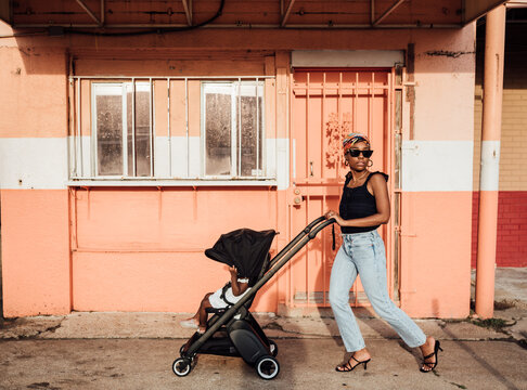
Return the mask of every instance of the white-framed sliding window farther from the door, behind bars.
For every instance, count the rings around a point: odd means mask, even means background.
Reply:
[[[92,88],[97,176],[151,176],[150,83],[93,83]]]

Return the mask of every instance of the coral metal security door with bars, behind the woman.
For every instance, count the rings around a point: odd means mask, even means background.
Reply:
[[[393,79],[391,69],[294,72],[291,86],[293,185],[288,196],[290,232],[293,234],[326,210],[338,209],[348,171],[342,154],[345,134],[368,134],[374,150],[371,170],[391,173]],[[394,193],[391,185],[390,193]],[[391,232],[390,224],[380,227],[388,256],[390,295],[394,290]],[[329,307],[330,274],[342,242],[339,234],[339,227],[335,225],[336,247],[333,250],[331,227],[325,229],[290,264],[290,307]],[[350,304],[369,304],[360,280],[350,291]]]

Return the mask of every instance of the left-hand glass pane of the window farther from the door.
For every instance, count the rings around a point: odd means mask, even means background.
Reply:
[[[118,93],[118,94],[117,94]],[[123,174],[123,95],[120,86],[95,92],[98,174]]]

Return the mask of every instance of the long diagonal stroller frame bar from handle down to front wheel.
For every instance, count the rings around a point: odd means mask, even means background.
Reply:
[[[322,223],[321,223],[322,222]],[[229,308],[226,313],[218,318],[190,348],[187,350],[185,355],[192,356],[196,351],[205,343],[205,341],[213,336],[222,325],[229,322],[236,311],[244,306],[249,299],[252,299],[256,292],[264,286],[277,272],[284,266],[291,258],[293,258],[301,248],[306,246],[317,234],[324,227],[335,223],[334,218],[325,219],[325,217],[319,217],[310,224],[308,224],[285,248],[283,248],[269,263],[269,271],[240,299],[234,306]]]

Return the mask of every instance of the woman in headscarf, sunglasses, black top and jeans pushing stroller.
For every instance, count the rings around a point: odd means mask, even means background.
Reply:
[[[360,275],[364,291],[375,312],[387,321],[411,348],[420,347],[423,365],[420,370],[429,373],[437,366],[439,341],[426,337],[417,325],[389,299],[386,284],[386,255],[384,243],[376,229],[389,220],[388,176],[370,172],[373,151],[363,134],[351,133],[343,142],[346,176],[339,213],[329,211],[340,225],[343,245],[333,263],[330,280],[330,303],[349,361],[336,366],[337,372],[350,372],[363,364],[367,369],[371,354],[365,348],[355,315],[349,307],[349,289]]]

